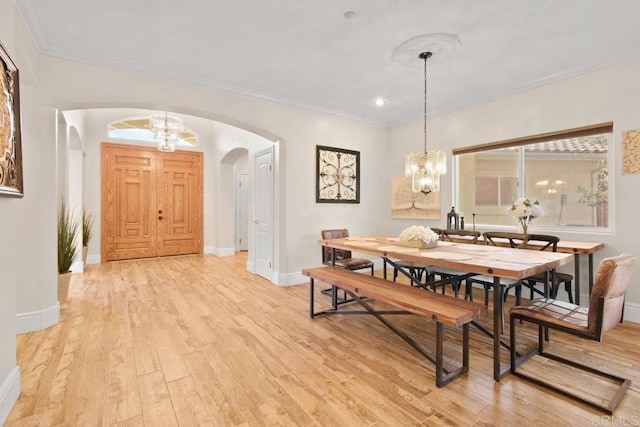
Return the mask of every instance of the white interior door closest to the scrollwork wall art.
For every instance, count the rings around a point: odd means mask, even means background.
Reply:
[[[255,156],[255,260],[256,274],[272,279],[273,273],[273,151]]]

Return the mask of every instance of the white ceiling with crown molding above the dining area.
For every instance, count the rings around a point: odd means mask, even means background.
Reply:
[[[638,0],[16,1],[43,53],[383,126],[422,117],[414,36],[461,41],[430,116],[640,57]]]

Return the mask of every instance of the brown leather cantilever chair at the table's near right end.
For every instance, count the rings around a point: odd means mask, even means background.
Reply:
[[[580,338],[601,342],[604,334],[622,319],[625,292],[629,286],[635,261],[636,257],[630,254],[621,254],[603,259],[598,268],[589,307],[582,307],[555,299],[536,299],[527,304],[513,307],[509,311],[511,372],[518,377],[525,378],[612,414],[631,384],[631,380],[579,363],[575,357],[566,359],[547,353],[544,350],[543,331],[555,329]],[[516,324],[519,322],[538,325],[538,345],[526,353],[518,353],[517,351],[518,331]],[[560,343],[556,343],[556,345],[560,345]],[[574,350],[574,347],[571,350]],[[551,384],[548,381],[543,381],[540,376],[530,375],[526,372],[526,369],[518,370],[528,359],[536,355],[541,356],[543,360],[551,359],[568,368],[581,370],[585,373],[585,378],[588,374],[591,374],[602,378],[606,382],[615,383],[618,385],[617,390],[609,401],[604,401],[602,398],[593,397],[596,389],[589,390],[588,393],[585,393],[585,390],[575,391],[570,385]],[[608,361],[603,359],[602,365],[607,366]],[[544,372],[540,371],[539,368],[536,372],[544,375]],[[562,375],[553,375],[553,381],[557,383],[569,372],[571,371],[567,369],[566,373]],[[597,388],[598,383],[598,381],[589,381],[589,388]]]

